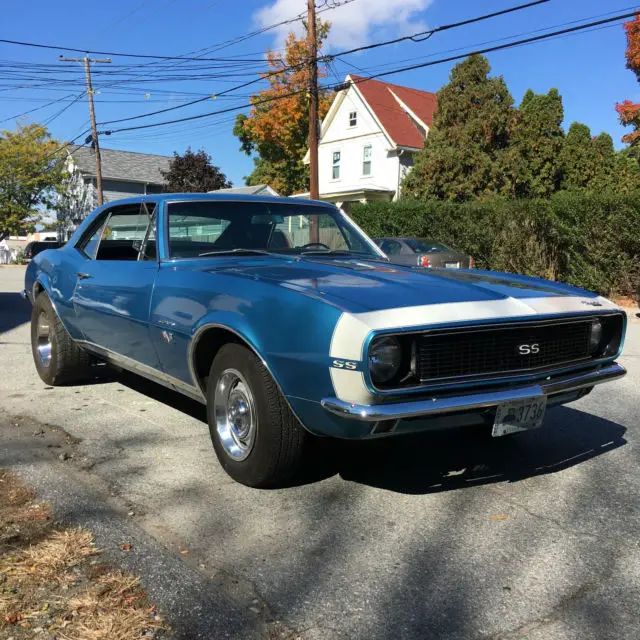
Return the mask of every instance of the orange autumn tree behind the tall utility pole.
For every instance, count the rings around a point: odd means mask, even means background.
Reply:
[[[319,44],[329,23],[319,21]],[[248,185],[268,184],[282,195],[309,190],[309,168],[303,163],[309,136],[309,49],[306,34],[289,34],[283,52],[267,50],[269,71],[262,76],[269,87],[250,98],[249,115],[239,114],[233,133],[241,149],[254,157],[255,168],[246,176]],[[318,77],[327,75],[322,65]],[[328,91],[320,91],[318,117],[330,106]]]

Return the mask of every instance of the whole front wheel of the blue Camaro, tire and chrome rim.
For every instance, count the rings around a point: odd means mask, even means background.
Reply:
[[[298,472],[311,435],[260,359],[227,344],[211,365],[207,416],[224,470],[250,487],[277,487]]]

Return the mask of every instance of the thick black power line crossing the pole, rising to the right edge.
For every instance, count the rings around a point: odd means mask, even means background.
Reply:
[[[384,72],[380,72],[380,73],[376,73],[376,74],[370,75],[370,76],[368,76],[366,78],[360,78],[358,81],[354,82],[354,84],[359,84],[361,82],[366,82],[367,80],[373,80],[375,78],[381,78],[381,77],[393,75],[393,74],[396,74],[396,73],[404,73],[405,71],[412,71],[412,70],[415,70],[415,69],[422,69],[422,68],[425,68],[425,67],[431,67],[431,66],[435,66],[435,65],[438,65],[438,64],[444,64],[446,62],[453,62],[455,60],[461,60],[461,59],[467,58],[468,56],[473,55],[473,54],[492,53],[494,51],[502,51],[502,50],[511,49],[511,48],[517,47],[517,46],[522,46],[522,45],[526,45],[526,44],[532,44],[534,42],[540,42],[540,41],[543,41],[543,40],[548,40],[550,38],[554,38],[554,37],[557,37],[557,36],[560,36],[560,35],[565,35],[565,34],[568,34],[568,33],[574,33],[574,32],[578,32],[578,31],[583,31],[585,29],[590,29],[592,27],[597,27],[597,26],[600,26],[600,25],[603,25],[603,24],[608,24],[608,23],[611,23],[611,22],[614,22],[614,21],[617,21],[617,20],[623,20],[625,18],[631,18],[631,17],[635,16],[635,14],[636,14],[635,11],[632,12],[632,13],[619,14],[619,15],[613,16],[611,18],[606,18],[606,19],[603,19],[603,20],[595,21],[595,22],[589,22],[589,23],[586,23],[586,24],[578,25],[578,26],[575,26],[575,27],[569,27],[569,28],[566,28],[566,29],[560,29],[558,31],[553,31],[551,33],[541,34],[541,35],[538,35],[538,36],[532,36],[530,38],[524,38],[524,39],[521,39],[521,40],[516,40],[514,42],[508,42],[508,43],[505,43],[505,44],[502,44],[502,45],[496,45],[496,46],[493,46],[493,47],[486,47],[484,49],[476,49],[476,50],[472,50],[472,51],[467,51],[466,53],[462,53],[462,54],[459,54],[459,55],[449,56],[447,58],[440,58],[438,60],[432,60],[432,61],[429,61],[429,62],[422,62],[422,63],[415,64],[415,65],[401,67],[399,69],[392,69],[390,71],[384,71]],[[340,86],[341,85],[337,85],[337,86],[328,85],[328,86],[323,87],[323,88],[324,89],[336,89],[336,88],[338,88]],[[220,115],[220,114],[223,114],[223,113],[229,113],[231,111],[238,111],[240,109],[245,109],[247,107],[252,107],[252,106],[259,105],[259,104],[264,104],[264,103],[267,103],[267,102],[273,102],[273,101],[276,101],[276,100],[282,100],[284,98],[288,98],[288,97],[291,97],[291,96],[299,95],[301,93],[306,93],[306,91],[307,90],[305,88],[305,89],[301,89],[301,90],[298,90],[298,91],[292,91],[292,92],[289,92],[289,93],[286,93],[286,94],[282,94],[280,96],[275,96],[275,97],[272,97],[272,98],[263,98],[263,99],[260,99],[260,100],[255,100],[253,102],[249,102],[247,104],[238,105],[238,106],[235,106],[235,107],[229,107],[229,108],[226,108],[226,109],[220,109],[220,110],[211,111],[211,112],[208,112],[208,113],[201,113],[201,114],[198,114],[198,115],[188,116],[188,117],[184,117],[184,118],[177,118],[175,120],[166,120],[166,121],[163,121],[163,122],[154,122],[154,123],[150,123],[150,124],[137,125],[137,126],[131,126],[131,127],[122,127],[122,128],[119,128],[119,129],[112,129],[110,131],[105,131],[104,133],[106,133],[107,135],[111,135],[113,133],[119,133],[119,132],[122,132],[122,131],[135,131],[135,130],[138,130],[138,129],[150,129],[152,127],[160,127],[160,126],[165,126],[165,125],[168,125],[168,124],[175,124],[175,123],[178,123],[178,122],[188,122],[188,121],[192,121],[192,120],[198,120],[198,119],[207,118],[207,117],[210,117],[210,116],[213,116],[213,115]]]

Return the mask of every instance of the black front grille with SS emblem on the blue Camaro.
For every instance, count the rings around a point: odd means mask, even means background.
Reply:
[[[590,358],[590,337],[589,321],[424,334],[418,340],[418,373],[426,382],[544,369]]]

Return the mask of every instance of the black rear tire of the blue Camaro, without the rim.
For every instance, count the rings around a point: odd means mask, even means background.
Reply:
[[[51,344],[48,362],[40,355],[38,319],[43,316],[49,327]],[[51,301],[43,291],[38,294],[31,310],[31,352],[36,370],[43,382],[52,386],[81,382],[89,377],[91,357],[76,345],[58,318]]]

